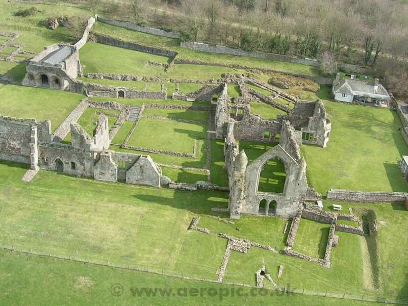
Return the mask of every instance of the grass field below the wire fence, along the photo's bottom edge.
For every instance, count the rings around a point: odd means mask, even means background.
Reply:
[[[95,304],[190,306],[202,304],[202,301],[205,301],[206,305],[217,305],[221,301],[223,305],[238,305],[242,304],[245,299],[258,305],[275,303],[283,306],[294,304],[345,306],[351,302],[350,300],[336,298],[277,292],[268,292],[268,296],[263,296],[263,292],[260,290],[254,291],[254,296],[250,296],[252,294],[249,288],[84,265],[17,252],[0,251],[0,266],[2,267],[0,273],[2,273],[3,290],[0,303],[9,306],[33,306],[43,305],[44,303],[57,305],[64,304],[66,301],[69,301],[72,306]],[[116,297],[111,294],[111,287],[118,282],[123,286],[124,292],[121,296]],[[152,289],[171,288],[175,292],[177,288],[186,288],[189,294],[187,297],[157,294],[156,297],[150,296],[147,298],[145,295],[133,296],[130,290],[146,287]],[[199,294],[201,288],[202,296]],[[211,291],[215,290],[217,294],[215,296],[212,293],[208,294],[208,292],[211,292],[210,289]],[[240,296],[241,294],[232,294],[232,290],[236,293],[237,289],[242,289],[242,296]],[[197,296],[194,296],[195,290],[198,290]],[[184,294],[184,291],[180,291],[180,293]],[[250,297],[245,297],[245,295]],[[353,301],[352,303],[356,306],[374,305],[374,303],[360,301]]]

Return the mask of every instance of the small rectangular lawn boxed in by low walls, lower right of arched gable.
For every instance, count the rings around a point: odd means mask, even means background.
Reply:
[[[301,219],[293,249],[315,258],[324,258],[329,224]]]

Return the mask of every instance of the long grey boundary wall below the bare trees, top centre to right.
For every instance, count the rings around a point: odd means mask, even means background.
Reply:
[[[203,52],[231,54],[231,55],[253,57],[253,58],[266,59],[266,60],[272,60],[272,61],[298,63],[298,64],[309,65],[309,66],[319,66],[320,65],[320,63],[316,60],[301,59],[301,58],[295,58],[295,57],[286,56],[286,55],[265,53],[265,52],[259,52],[259,51],[250,52],[250,51],[245,51],[242,49],[231,48],[231,47],[226,47],[226,46],[219,46],[219,45],[214,46],[214,45],[209,45],[209,44],[200,43],[200,42],[181,42],[180,46],[183,48],[203,51]]]

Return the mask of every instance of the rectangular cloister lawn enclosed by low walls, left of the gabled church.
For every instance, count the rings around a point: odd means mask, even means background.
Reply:
[[[206,132],[204,124],[141,118],[127,144],[192,154],[194,140],[205,138]]]

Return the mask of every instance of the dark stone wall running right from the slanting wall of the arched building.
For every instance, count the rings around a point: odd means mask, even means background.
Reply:
[[[177,53],[164,48],[150,47],[143,44],[138,44],[130,41],[120,40],[111,36],[102,35],[98,33],[92,33],[93,40],[97,43],[107,44],[114,47],[135,50],[144,53],[150,53],[154,55],[160,55],[165,57],[174,58]]]

